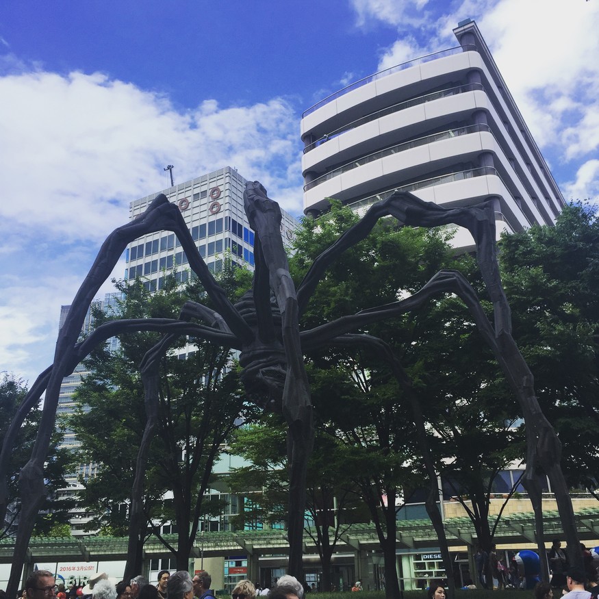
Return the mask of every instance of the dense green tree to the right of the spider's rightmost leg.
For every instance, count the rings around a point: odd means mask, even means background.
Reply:
[[[535,376],[539,403],[563,444],[574,488],[599,486],[599,220],[596,208],[563,209],[500,241],[513,335]]]

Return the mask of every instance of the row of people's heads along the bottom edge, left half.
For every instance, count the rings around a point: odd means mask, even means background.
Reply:
[[[118,582],[105,572],[98,572],[90,576],[86,585],[72,585],[67,589],[56,584],[52,572],[36,570],[27,578],[16,599],[211,599],[216,597],[211,586],[212,577],[207,572],[199,572],[192,578],[186,570],[174,574],[162,570],[155,584],[149,583],[144,576]],[[270,589],[248,580],[239,581],[231,592],[231,598],[303,599],[304,593],[305,589],[297,578],[281,576]],[[4,591],[0,591],[0,599],[6,599]]]

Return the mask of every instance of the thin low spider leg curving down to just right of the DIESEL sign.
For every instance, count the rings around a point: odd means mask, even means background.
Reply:
[[[429,475],[429,494],[426,496],[424,505],[426,507],[426,513],[428,513],[429,518],[431,518],[431,522],[433,523],[433,528],[435,528],[435,533],[437,533],[437,539],[439,539],[439,549],[441,550],[443,564],[447,575],[446,578],[449,587],[449,594],[450,596],[453,596],[455,591],[453,565],[449,555],[449,546],[447,543],[447,536],[445,534],[443,518],[437,505],[437,502],[439,501],[437,470],[435,470],[435,463],[429,449],[429,437],[426,435],[426,427],[424,416],[422,414],[422,408],[420,407],[418,396],[413,389],[412,381],[403,369],[400,360],[395,355],[391,346],[385,343],[382,339],[379,339],[379,337],[374,337],[373,335],[368,335],[366,333],[346,333],[344,335],[340,335],[339,337],[333,337],[333,339],[329,341],[329,344],[349,348],[364,347],[370,353],[372,353],[372,355],[375,355],[382,361],[385,361],[396,381],[398,381],[405,396],[409,400],[414,418],[414,424],[416,424],[418,444],[420,445],[424,467],[426,468],[426,473]],[[387,534],[391,534],[391,531],[387,531]],[[395,535],[395,531],[393,531],[392,534]]]

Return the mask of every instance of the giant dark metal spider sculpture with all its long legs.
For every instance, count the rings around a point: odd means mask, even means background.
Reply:
[[[307,459],[314,439],[310,391],[303,355],[331,345],[367,346],[390,365],[403,389],[411,398],[413,418],[419,431],[425,465],[431,479],[431,492],[426,506],[439,535],[446,572],[451,576],[452,568],[444,540],[443,523],[436,505],[435,468],[426,447],[424,421],[418,398],[411,392],[410,381],[390,348],[376,337],[355,333],[372,322],[419,307],[431,296],[444,292],[457,294],[468,305],[477,327],[492,348],[513,392],[518,397],[526,422],[528,444],[523,484],[535,511],[539,550],[544,548],[541,489],[535,477],[535,470],[539,467],[548,475],[555,492],[568,546],[577,547],[574,513],[559,466],[561,444],[552,426],[541,412],[533,390],[532,374],[511,336],[509,305],[502,290],[496,262],[492,201],[476,207],[444,209],[433,203],[425,203],[412,194],[397,192],[385,201],[370,207],[364,218],[316,258],[297,289],[290,277],[281,239],[279,206],[268,199],[266,190],[257,181],[246,184],[244,205],[250,226],[255,231],[256,262],[253,288],[236,305],[231,304],[227,299],[201,259],[179,209],[175,204],[169,203],[166,196],[162,194],[157,196],[144,214],[113,231],[104,242],[88,276],[75,296],[68,318],[59,333],[52,366],[44,370],[31,387],[3,442],[0,454],[1,518],[5,515],[8,502],[7,473],[12,444],[16,436],[15,431],[21,426],[27,411],[38,403],[40,395],[45,390],[42,420],[36,443],[31,459],[20,474],[21,521],[15,541],[8,595],[14,596],[18,588],[35,515],[44,498],[43,467],[54,428],[62,379],[73,371],[94,346],[113,335],[127,331],[164,333],[160,343],[146,354],[140,365],[144,381],[147,424],[132,489],[130,550],[135,546],[134,533],[143,518],[141,498],[144,473],[149,442],[157,418],[157,364],[175,337],[188,335],[239,350],[240,364],[243,368],[242,381],[248,397],[268,409],[276,409],[283,413],[288,424],[290,461],[289,569],[296,576],[301,575],[302,571],[305,475]],[[409,298],[344,316],[315,329],[301,331],[299,318],[329,264],[340,253],[364,239],[377,220],[384,216],[392,216],[403,225],[409,226],[436,227],[454,224],[466,227],[476,242],[479,268],[493,304],[494,324],[487,319],[468,281],[457,271],[444,270],[438,272],[419,292]],[[110,276],[112,268],[127,244],[141,235],[162,230],[173,231],[177,235],[186,252],[190,267],[199,277],[218,309],[213,310],[199,303],[188,302],[183,307],[179,320],[116,320],[103,324],[83,342],[77,342],[84,316],[92,299],[101,284]],[[274,303],[271,302],[272,296],[276,300]],[[190,322],[190,318],[195,318],[202,324]],[[577,561],[578,554],[579,552],[575,550],[571,552],[573,561]],[[543,560],[541,562],[544,563]],[[129,570],[131,567],[128,561],[125,579],[127,576],[138,574]]]

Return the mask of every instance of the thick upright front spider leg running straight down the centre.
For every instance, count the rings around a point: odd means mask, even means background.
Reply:
[[[266,285],[262,266],[268,268],[270,288],[275,293],[281,311],[281,332],[287,372],[283,388],[283,415],[288,423],[288,454],[290,455],[289,489],[289,569],[302,579],[303,520],[305,510],[305,480],[307,460],[314,446],[314,422],[310,390],[303,363],[298,324],[298,303],[295,286],[281,239],[281,210],[266,196],[257,181],[246,183],[244,207],[250,226],[259,242],[259,296],[264,301]],[[270,293],[269,293],[270,296]],[[270,301],[269,301],[270,305]]]

